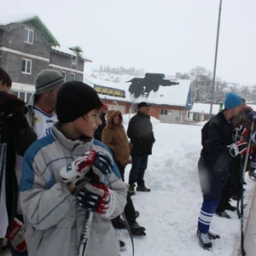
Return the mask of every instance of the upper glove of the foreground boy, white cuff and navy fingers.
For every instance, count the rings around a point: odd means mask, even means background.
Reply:
[[[104,180],[104,175],[112,172],[113,161],[102,152],[87,151],[77,160],[61,168],[61,179],[64,183],[72,183],[73,187],[77,187],[84,179],[90,179],[90,168]]]

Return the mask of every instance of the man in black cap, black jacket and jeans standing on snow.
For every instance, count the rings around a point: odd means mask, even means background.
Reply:
[[[152,154],[154,144],[153,126],[150,122],[148,111],[151,105],[147,102],[137,104],[137,114],[129,122],[127,136],[131,139],[131,171],[129,175],[129,191],[135,195],[135,183],[137,191],[149,192],[145,186],[144,173],[148,166],[148,155]]]

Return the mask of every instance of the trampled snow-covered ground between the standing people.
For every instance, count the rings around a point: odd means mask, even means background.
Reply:
[[[127,129],[128,116],[124,116]],[[236,212],[227,211],[231,219],[214,216],[212,230],[220,239],[212,241],[212,252],[205,251],[198,242],[195,231],[201,209],[202,197],[197,173],[197,161],[201,151],[202,125],[160,124],[154,125],[153,154],[148,158],[145,173],[150,193],[137,192],[132,196],[140,212],[139,224],[147,230],[147,236],[133,237],[137,256],[231,256],[240,240],[240,220]],[[125,182],[131,166],[125,169]],[[253,180],[246,177],[245,203],[252,195]],[[236,205],[236,201],[231,202]],[[249,208],[249,207],[247,207]],[[248,211],[245,210],[245,218]],[[126,243],[121,256],[131,255],[131,238],[127,230],[120,235]]]

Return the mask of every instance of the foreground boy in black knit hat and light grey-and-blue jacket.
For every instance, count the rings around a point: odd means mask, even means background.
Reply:
[[[111,219],[127,189],[108,148],[93,139],[102,102],[89,85],[61,85],[52,134],[27,150],[20,183],[29,255],[77,256],[84,212],[93,213],[88,256],[118,256]]]

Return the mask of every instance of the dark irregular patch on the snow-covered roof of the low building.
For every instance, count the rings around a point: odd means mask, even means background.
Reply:
[[[138,96],[148,96],[150,91],[154,92],[159,90],[161,86],[171,86],[179,84],[177,80],[166,79],[166,75],[163,73],[146,73],[143,79],[131,79],[131,85],[129,91],[135,98]]]

